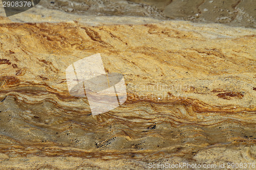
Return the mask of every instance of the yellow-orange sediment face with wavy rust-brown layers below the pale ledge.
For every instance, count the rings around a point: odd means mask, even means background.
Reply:
[[[2,169],[255,163],[255,29],[0,21]],[[100,53],[127,100],[91,115],[65,70]],[[222,154],[220,154],[222,153]]]

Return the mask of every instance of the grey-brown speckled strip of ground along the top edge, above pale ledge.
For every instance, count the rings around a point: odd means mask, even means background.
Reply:
[[[256,28],[254,0],[48,0],[39,5],[81,16],[146,16]]]

